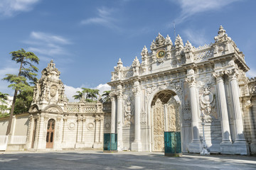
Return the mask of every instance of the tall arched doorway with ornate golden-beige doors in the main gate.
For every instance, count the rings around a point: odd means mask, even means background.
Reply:
[[[179,107],[180,101],[174,91],[164,90],[154,95],[151,101],[153,152],[164,152],[164,132],[179,132],[179,137],[175,138],[175,144],[181,143]]]

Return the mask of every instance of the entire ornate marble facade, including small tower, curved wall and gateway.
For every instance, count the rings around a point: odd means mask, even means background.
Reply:
[[[117,133],[118,150],[162,152],[164,132],[175,131],[182,152],[199,153],[203,115],[209,152],[256,154],[256,78],[222,26],[214,40],[193,47],[159,33],[141,62],[119,59],[111,103],[68,102],[51,61],[34,91],[26,149],[102,148],[103,133]]]

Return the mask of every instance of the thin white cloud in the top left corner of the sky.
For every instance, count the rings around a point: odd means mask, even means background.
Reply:
[[[1,0],[0,15],[14,16],[18,12],[31,11],[39,0]]]

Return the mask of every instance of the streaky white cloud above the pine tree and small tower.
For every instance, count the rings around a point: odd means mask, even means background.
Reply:
[[[28,40],[23,42],[31,45],[28,47],[28,51],[50,57],[55,55],[68,55],[68,52],[65,50],[63,45],[71,44],[70,40],[63,38],[60,35],[36,31],[31,32]]]

